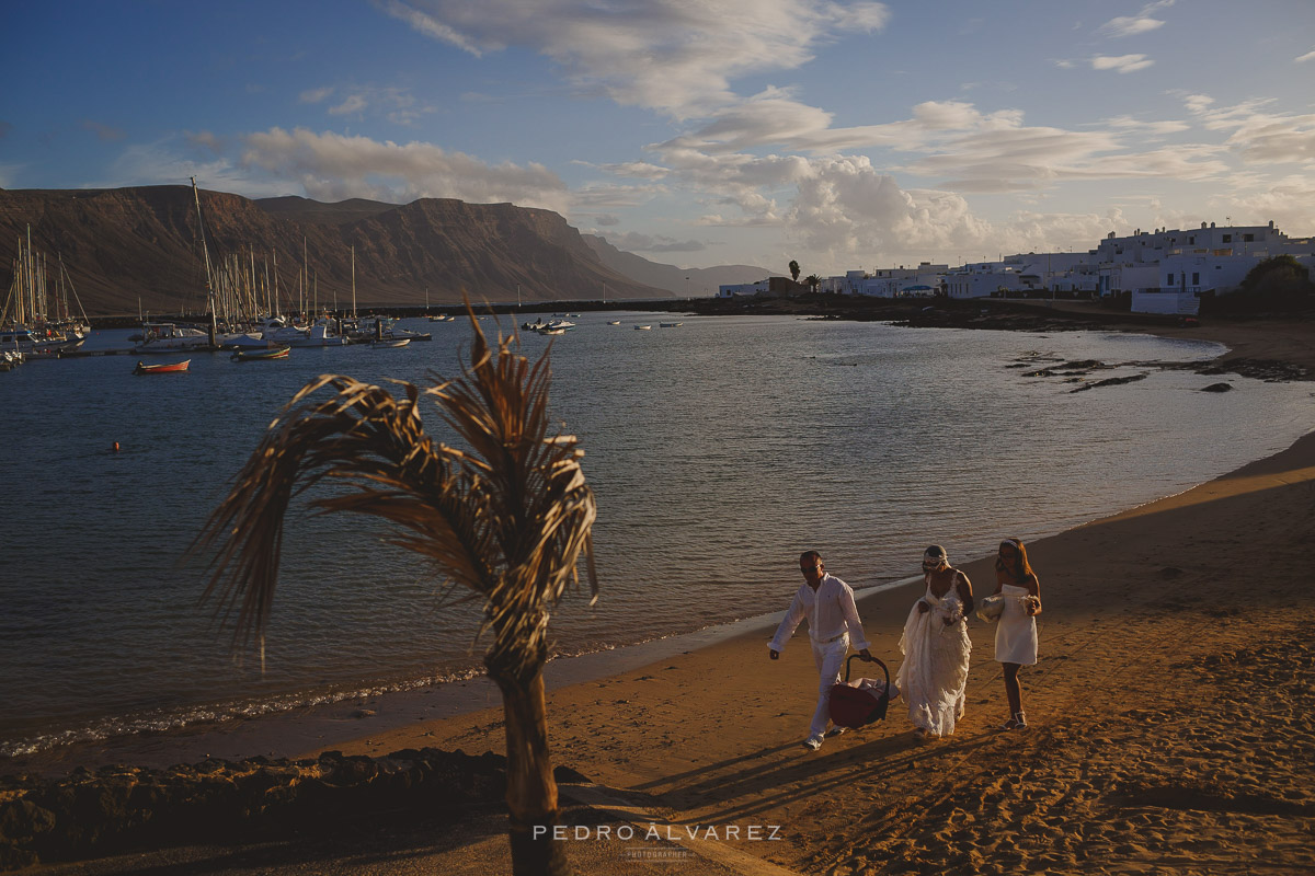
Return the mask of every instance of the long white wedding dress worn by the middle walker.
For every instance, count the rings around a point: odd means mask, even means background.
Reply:
[[[964,620],[963,602],[955,587],[940,596],[931,586],[922,598],[931,611],[919,612],[914,603],[899,638],[903,663],[896,675],[899,695],[909,703],[909,720],[934,735],[949,735],[964,716],[964,687],[972,642]],[[952,619],[945,624],[945,619]]]

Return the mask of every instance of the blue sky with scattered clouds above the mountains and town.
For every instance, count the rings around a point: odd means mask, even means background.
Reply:
[[[805,274],[1315,235],[1315,0],[5,4],[0,188],[544,208]]]

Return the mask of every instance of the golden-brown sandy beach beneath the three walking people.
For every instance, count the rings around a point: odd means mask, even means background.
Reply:
[[[1156,334],[1228,344],[1226,369],[1274,360],[1315,373],[1310,323]],[[967,713],[934,742],[914,737],[897,701],[885,721],[801,747],[817,672],[802,632],[768,661],[767,621],[555,690],[554,763],[588,779],[562,785],[568,856],[584,873],[1312,872],[1311,544],[1315,433],[1030,545],[1045,611],[1040,662],[1022,675],[1026,732],[998,729],[1007,708],[994,628],[977,620]],[[807,546],[781,546],[782,575]],[[978,595],[993,590],[988,559],[961,567]],[[920,583],[859,603],[892,675],[919,595]],[[381,732],[371,720],[343,722],[342,738],[313,749],[288,739],[284,754],[504,750],[500,708]],[[618,838],[625,826],[633,839]],[[496,808],[456,823],[397,812],[316,835],[32,872],[509,872],[504,830]]]

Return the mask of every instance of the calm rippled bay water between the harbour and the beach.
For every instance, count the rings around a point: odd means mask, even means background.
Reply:
[[[1007,368],[1034,353],[1207,359],[1210,344],[659,317],[585,314],[555,340],[554,410],[586,450],[604,588],[594,608],[563,603],[560,654],[780,609],[806,548],[876,584],[911,574],[928,542],[953,558],[1057,532],[1308,426],[1307,385],[1230,377],[1237,391],[1210,394],[1195,390],[1219,378],[1127,365],[1099,376],[1148,378],[1069,394]],[[302,383],[456,373],[468,327],[413,327],[434,341],[283,362],[200,353],[176,376],[134,377],[129,356],[0,374],[0,754],[477,671],[477,607],[439,607],[433,571],[381,544],[373,521],[295,516],[263,676],[229,659],[227,633],[197,605],[200,570],[178,566]],[[531,355],[546,344],[525,339]]]

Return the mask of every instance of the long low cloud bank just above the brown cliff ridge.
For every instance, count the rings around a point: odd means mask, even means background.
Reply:
[[[321,201],[450,197],[480,204],[510,201],[559,213],[571,204],[565,184],[540,164],[492,165],[429,143],[272,127],[246,135],[245,144],[243,165],[296,180],[309,197]]]

